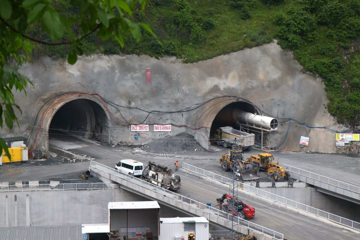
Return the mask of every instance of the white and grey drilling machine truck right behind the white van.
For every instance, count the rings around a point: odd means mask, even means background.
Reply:
[[[167,190],[177,191],[180,189],[180,176],[175,175],[171,168],[149,161],[143,171],[143,180]]]

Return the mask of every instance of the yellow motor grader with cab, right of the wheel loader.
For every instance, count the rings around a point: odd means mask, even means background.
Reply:
[[[259,153],[258,155],[251,155],[245,162],[252,164],[254,168],[267,171],[267,175],[272,176],[276,182],[279,177],[284,177],[285,180],[290,177],[290,173],[279,165],[279,160],[276,163],[274,162],[273,154]]]

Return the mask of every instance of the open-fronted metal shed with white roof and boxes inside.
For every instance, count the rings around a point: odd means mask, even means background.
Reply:
[[[109,225],[111,239],[158,240],[160,206],[157,201],[110,202]],[[116,238],[118,237],[118,238]]]

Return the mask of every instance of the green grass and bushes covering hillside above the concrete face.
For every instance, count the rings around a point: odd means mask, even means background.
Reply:
[[[57,9],[76,16],[68,0]],[[197,62],[279,39],[307,71],[318,74],[330,100],[329,112],[353,130],[360,125],[360,0],[152,0],[135,20],[147,23],[158,40],[145,33],[139,42],[123,36],[123,48],[91,35],[85,54],[175,55]],[[79,26],[80,28],[80,26]],[[41,36],[37,27],[29,31]],[[74,30],[76,32],[76,30]],[[64,36],[66,39],[67,36]],[[64,57],[66,46],[43,47]]]

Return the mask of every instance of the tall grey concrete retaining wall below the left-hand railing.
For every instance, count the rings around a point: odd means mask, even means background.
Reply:
[[[0,227],[108,222],[108,202],[148,201],[119,189],[0,192]],[[162,217],[189,217],[161,205]],[[212,228],[217,230],[217,228]]]

